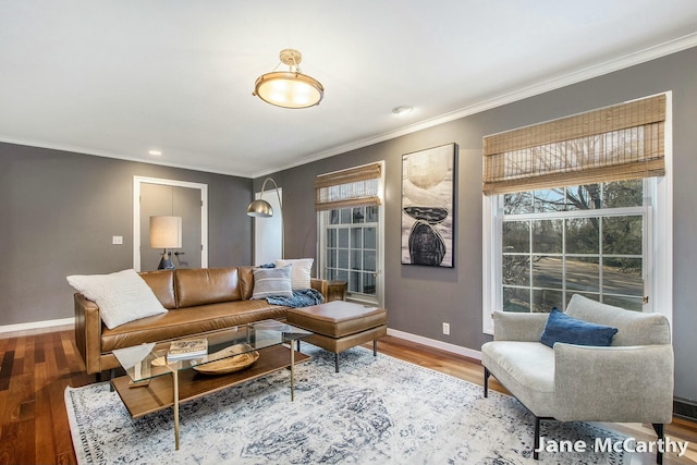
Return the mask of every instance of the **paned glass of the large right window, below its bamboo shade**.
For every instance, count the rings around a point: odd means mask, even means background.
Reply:
[[[644,310],[644,265],[651,261],[644,184],[631,180],[500,196],[503,311],[563,310],[572,294]]]

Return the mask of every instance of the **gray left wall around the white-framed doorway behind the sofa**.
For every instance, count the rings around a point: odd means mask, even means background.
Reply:
[[[252,262],[252,180],[0,143],[0,326],[72,317],[66,276],[133,267],[134,175],[208,184],[209,266]]]

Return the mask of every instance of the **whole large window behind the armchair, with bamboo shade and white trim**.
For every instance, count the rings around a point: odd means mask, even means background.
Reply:
[[[670,93],[485,137],[491,310],[571,296],[672,317]]]

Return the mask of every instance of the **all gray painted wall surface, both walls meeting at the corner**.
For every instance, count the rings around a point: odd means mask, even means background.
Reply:
[[[329,159],[274,173],[283,187],[288,257],[315,257],[314,180],[386,161],[386,307],[390,328],[479,350],[481,333],[481,137],[673,90],[675,394],[697,400],[697,48]],[[465,83],[466,85],[466,83]],[[443,144],[460,148],[455,268],[402,266],[401,158]],[[0,326],[71,317],[71,273],[132,266],[133,175],[209,185],[209,265],[252,262],[245,209],[250,180],[0,144]],[[124,244],[111,245],[112,235]],[[441,322],[451,335],[441,334]]]

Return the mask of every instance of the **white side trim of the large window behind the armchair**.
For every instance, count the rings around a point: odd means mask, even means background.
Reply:
[[[648,206],[647,221],[651,229],[652,247],[645,269],[652,280],[646,287],[653,299],[653,313],[664,315],[672,328],[673,322],[673,109],[672,91],[665,93],[664,162],[665,174],[656,178],[651,185],[653,205]],[[501,195],[481,195],[482,223],[482,332],[493,334],[493,310],[501,309],[502,293],[499,292],[503,238],[499,216],[503,215]]]

